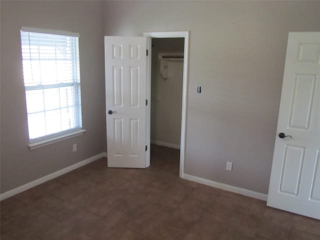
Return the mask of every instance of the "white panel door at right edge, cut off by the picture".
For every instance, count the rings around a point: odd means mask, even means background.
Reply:
[[[320,32],[290,32],[267,205],[320,219]]]

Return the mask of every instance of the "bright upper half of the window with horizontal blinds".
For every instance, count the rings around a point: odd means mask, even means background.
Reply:
[[[26,86],[79,82],[78,38],[21,31]]]

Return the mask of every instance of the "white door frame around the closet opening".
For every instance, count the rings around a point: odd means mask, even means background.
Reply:
[[[153,38],[169,38],[169,37],[184,37],[184,57],[183,57],[183,86],[182,86],[182,111],[181,111],[181,140],[180,140],[180,169],[179,176],[183,176],[184,154],[185,154],[185,127],[186,127],[186,99],[187,99],[187,73],[188,73],[188,49],[189,49],[189,31],[163,31],[163,32],[143,32],[143,36]],[[147,57],[147,79],[146,79],[146,95],[148,102],[151,102],[151,40],[147,42],[147,48],[149,51]],[[145,165],[150,165],[150,114],[151,104],[147,105],[146,110],[146,142],[147,153]]]

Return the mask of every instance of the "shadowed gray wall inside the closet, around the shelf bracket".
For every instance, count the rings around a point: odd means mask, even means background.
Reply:
[[[151,141],[180,145],[183,60],[168,61],[168,78],[160,72],[159,53],[183,53],[184,38],[153,38],[151,66]]]

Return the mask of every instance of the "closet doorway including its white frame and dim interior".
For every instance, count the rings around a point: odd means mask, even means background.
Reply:
[[[178,168],[183,177],[189,32],[143,35],[149,36],[146,139],[152,144],[147,146],[146,166],[165,163],[175,167],[173,171]],[[161,158],[169,158],[169,162],[161,162]]]

